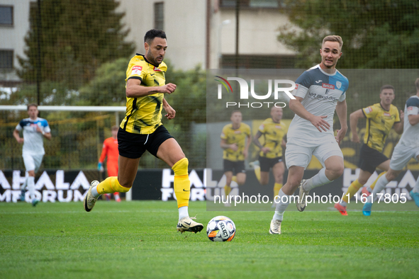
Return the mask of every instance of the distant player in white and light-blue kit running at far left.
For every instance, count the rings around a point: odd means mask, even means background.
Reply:
[[[26,179],[21,188],[21,200],[25,200],[27,186],[33,206],[39,202],[35,198],[35,173],[38,171],[45,154],[43,137],[51,139],[48,122],[43,118],[38,118],[38,113],[38,106],[35,103],[30,103],[28,105],[29,118],[21,120],[13,131],[13,137],[18,143],[23,144],[22,156],[26,168]],[[22,130],[23,137],[20,137],[19,132]]]

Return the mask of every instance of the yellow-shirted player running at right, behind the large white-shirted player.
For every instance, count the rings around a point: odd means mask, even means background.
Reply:
[[[373,106],[362,108],[354,111],[350,115],[350,127],[352,131],[352,142],[359,143],[357,133],[357,123],[359,118],[367,118],[367,128],[364,135],[364,144],[362,144],[358,166],[361,169],[357,180],[351,183],[342,201],[335,204],[335,208],[342,214],[347,215],[348,200],[367,183],[369,177],[374,173],[376,168],[383,170],[379,176],[382,176],[389,170],[390,159],[382,154],[386,138],[389,135],[391,127],[399,134],[403,133],[403,116],[401,110],[400,115],[396,106],[391,103],[394,100],[394,87],[384,85],[381,87],[380,103]],[[375,183],[374,183],[375,185]],[[371,185],[371,189],[374,188]],[[364,190],[365,189],[365,190]],[[372,190],[362,189],[362,193],[369,195]],[[348,197],[349,194],[349,197]]]

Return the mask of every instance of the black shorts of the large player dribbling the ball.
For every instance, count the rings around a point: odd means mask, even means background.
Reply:
[[[150,135],[133,134],[119,127],[118,151],[121,156],[130,159],[140,158],[145,150],[157,157],[157,150],[159,150],[160,145],[171,137],[172,135],[169,134],[163,125],[157,127],[155,132]]]

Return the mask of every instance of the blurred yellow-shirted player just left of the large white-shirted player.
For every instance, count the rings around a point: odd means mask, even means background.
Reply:
[[[272,168],[275,178],[274,198],[282,188],[284,180],[284,161],[282,147],[285,147],[286,124],[281,121],[282,108],[271,108],[271,118],[264,120],[260,125],[253,142],[259,147],[259,164],[252,162],[257,180],[262,185],[269,183],[269,169]],[[259,137],[264,136],[264,144],[260,144]],[[275,206],[275,205],[274,205]]]

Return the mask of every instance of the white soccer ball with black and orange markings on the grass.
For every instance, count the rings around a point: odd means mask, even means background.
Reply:
[[[213,217],[206,226],[206,235],[211,241],[232,241],[235,236],[235,224],[225,216]]]

